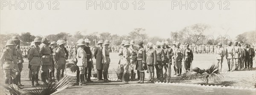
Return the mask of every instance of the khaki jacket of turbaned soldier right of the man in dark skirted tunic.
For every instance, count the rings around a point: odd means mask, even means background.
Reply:
[[[157,51],[155,49],[148,49],[146,63],[147,65],[157,64]]]

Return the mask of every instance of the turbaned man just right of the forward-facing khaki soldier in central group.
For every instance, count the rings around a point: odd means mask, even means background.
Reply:
[[[157,70],[157,78],[163,78],[163,65],[166,61],[166,55],[164,50],[161,48],[161,42],[157,41],[157,63],[155,68]]]

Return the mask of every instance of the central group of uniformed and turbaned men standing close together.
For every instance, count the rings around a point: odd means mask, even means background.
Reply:
[[[138,81],[137,83],[144,83],[146,70],[149,76],[148,81],[154,80],[154,68],[156,69],[157,79],[163,77],[171,77],[171,66],[174,66],[175,75],[181,75],[182,61],[184,61],[184,68],[186,72],[190,71],[190,64],[193,61],[192,50],[189,49],[189,44],[186,45],[186,49],[180,49],[180,43],[175,43],[172,47],[168,45],[168,42],[157,42],[156,49],[153,48],[153,43],[148,43],[146,51],[143,46],[143,42],[138,42],[135,45],[134,40],[131,40],[130,44],[121,43],[123,47],[119,49],[119,68],[121,69],[120,79],[123,83],[128,83],[129,73],[128,69],[131,69],[131,80],[135,80],[136,70]],[[165,69],[166,72],[163,72]],[[165,75],[165,76],[164,76]]]

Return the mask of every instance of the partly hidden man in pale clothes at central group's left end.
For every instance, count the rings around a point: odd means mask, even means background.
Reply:
[[[119,62],[118,62],[118,64],[120,65],[119,66],[119,68],[120,68],[120,81],[122,81],[122,75],[123,75],[123,73],[124,73],[124,57],[123,57],[123,53],[122,53],[122,51],[123,51],[123,46],[124,46],[124,44],[125,43],[121,43],[120,45],[121,45],[121,47],[120,47],[120,49],[119,49],[119,54],[118,54],[118,56],[119,56]],[[119,79],[118,79],[119,80]]]

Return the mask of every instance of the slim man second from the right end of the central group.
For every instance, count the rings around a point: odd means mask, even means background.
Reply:
[[[181,72],[182,72],[182,65],[181,65],[181,62],[182,62],[182,58],[183,58],[183,54],[182,54],[182,50],[180,49],[180,43],[179,42],[176,42],[175,43],[175,56],[173,58],[175,58],[175,67],[176,67],[176,71],[177,71],[177,76],[180,76],[181,75]]]

